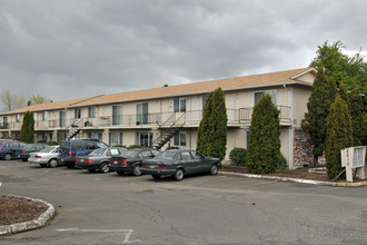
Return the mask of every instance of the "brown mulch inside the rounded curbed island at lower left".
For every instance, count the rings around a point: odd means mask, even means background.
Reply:
[[[0,226],[37,219],[49,207],[27,198],[0,196]]]

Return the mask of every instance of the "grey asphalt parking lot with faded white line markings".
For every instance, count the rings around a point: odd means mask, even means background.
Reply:
[[[0,160],[0,194],[57,215],[0,244],[366,244],[367,188],[196,175],[182,182]]]

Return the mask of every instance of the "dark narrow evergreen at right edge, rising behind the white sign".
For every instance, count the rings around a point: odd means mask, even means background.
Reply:
[[[349,94],[349,105],[353,143],[354,146],[363,146],[366,144],[367,127],[363,115],[364,102],[357,89],[353,89]]]

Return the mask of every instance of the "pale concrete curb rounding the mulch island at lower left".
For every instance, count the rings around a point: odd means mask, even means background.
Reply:
[[[0,236],[1,235],[11,235],[14,233],[20,233],[20,232],[27,232],[31,229],[37,229],[40,227],[46,226],[46,224],[53,217],[54,215],[54,207],[52,204],[49,204],[44,200],[41,199],[33,199],[30,197],[23,197],[23,196],[13,196],[13,195],[1,195],[1,196],[9,196],[9,197],[18,197],[18,198],[23,198],[23,199],[31,199],[36,203],[42,203],[49,206],[49,208],[41,214],[37,219],[30,220],[30,222],[22,222],[22,223],[16,223],[11,225],[2,225],[0,226]]]

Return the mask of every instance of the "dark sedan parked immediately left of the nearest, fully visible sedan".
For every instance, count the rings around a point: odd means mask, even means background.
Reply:
[[[150,148],[129,149],[120,157],[111,157],[108,167],[119,175],[132,174],[139,176],[141,175],[141,161],[153,158],[157,154],[159,154],[158,150]]]

